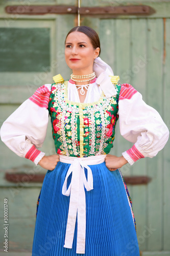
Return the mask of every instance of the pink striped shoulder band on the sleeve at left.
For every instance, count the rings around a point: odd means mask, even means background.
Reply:
[[[30,97],[30,100],[35,104],[40,106],[41,108],[48,108],[48,102],[50,98],[51,92],[49,92],[48,88],[45,86],[41,86],[36,90],[33,96]]]

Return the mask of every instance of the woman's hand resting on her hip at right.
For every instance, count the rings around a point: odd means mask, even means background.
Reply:
[[[124,164],[128,163],[128,161],[123,157],[116,157],[113,155],[107,155],[105,158],[106,167],[109,170],[116,170],[118,168],[121,168]]]

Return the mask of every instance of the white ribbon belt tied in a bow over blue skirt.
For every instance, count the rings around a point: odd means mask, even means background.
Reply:
[[[88,165],[103,163],[105,161],[105,157],[106,155],[92,156],[86,158],[68,157],[60,155],[60,162],[71,163],[62,187],[62,194],[67,197],[70,195],[64,247],[72,248],[76,218],[78,218],[76,253],[85,253],[86,197],[84,186],[87,191],[93,189],[93,176],[91,169]],[[87,180],[84,168],[87,169]],[[71,182],[67,189],[67,179],[71,173]]]

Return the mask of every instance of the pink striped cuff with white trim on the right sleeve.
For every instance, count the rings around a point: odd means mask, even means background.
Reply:
[[[123,157],[133,165],[140,158],[144,158],[144,156],[137,150],[136,146],[133,145],[129,150],[122,153]]]

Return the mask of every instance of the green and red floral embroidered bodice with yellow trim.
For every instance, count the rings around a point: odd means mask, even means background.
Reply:
[[[71,157],[108,154],[118,119],[120,84],[109,98],[102,93],[98,102],[77,103],[68,100],[67,83],[52,84],[48,104],[56,153]]]

